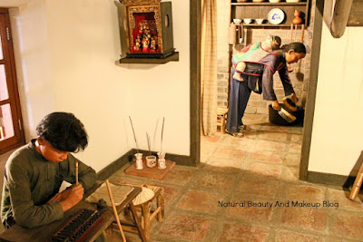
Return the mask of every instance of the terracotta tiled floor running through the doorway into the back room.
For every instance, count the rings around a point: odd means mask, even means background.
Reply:
[[[113,174],[165,188],[165,220],[152,222],[152,241],[363,241],[361,194],[351,201],[341,188],[299,181],[302,128],[246,118],[242,139],[201,138],[198,168],[176,166],[162,180]]]

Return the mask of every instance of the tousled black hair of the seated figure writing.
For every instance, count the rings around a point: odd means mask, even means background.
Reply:
[[[36,126],[38,137],[48,141],[55,150],[78,152],[88,144],[83,123],[69,112],[52,112]]]

